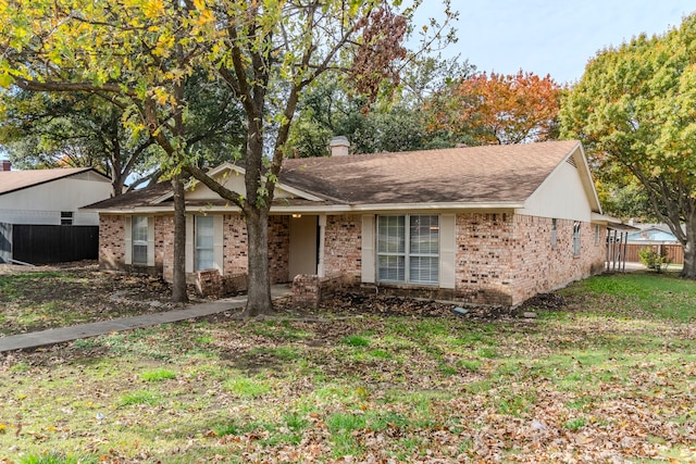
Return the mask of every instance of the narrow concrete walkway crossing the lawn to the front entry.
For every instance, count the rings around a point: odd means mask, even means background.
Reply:
[[[271,297],[275,300],[293,294],[287,286],[273,286]],[[184,310],[172,310],[163,313],[144,314],[141,316],[123,317],[72,327],[54,328],[29,334],[0,337],[0,353],[5,351],[38,348],[47,344],[62,343],[79,338],[95,337],[112,331],[132,330],[134,328],[151,327],[160,324],[191,319],[223,313],[229,310],[243,309],[247,304],[247,297],[225,298],[210,303],[194,304]]]

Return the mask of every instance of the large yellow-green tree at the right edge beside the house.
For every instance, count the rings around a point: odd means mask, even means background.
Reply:
[[[664,35],[599,52],[561,110],[562,135],[583,141],[599,176],[637,181],[684,246],[682,275],[689,278],[696,278],[694,108],[696,15]]]

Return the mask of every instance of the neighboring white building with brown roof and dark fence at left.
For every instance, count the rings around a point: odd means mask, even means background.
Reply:
[[[0,262],[97,258],[99,215],[79,208],[111,196],[109,177],[91,167],[10,167],[9,161],[0,161]]]

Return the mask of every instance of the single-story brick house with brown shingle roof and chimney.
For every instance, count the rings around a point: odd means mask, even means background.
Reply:
[[[334,146],[335,145],[335,146]],[[271,209],[272,283],[341,277],[372,291],[515,305],[600,273],[607,225],[577,141],[286,160]],[[343,153],[341,153],[343,151]],[[244,170],[209,173],[244,192]],[[186,197],[186,272],[246,272],[238,210],[202,184]],[[89,206],[100,266],[172,277],[167,183]]]

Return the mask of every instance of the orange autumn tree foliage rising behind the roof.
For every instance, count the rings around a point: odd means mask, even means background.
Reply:
[[[476,74],[434,96],[428,129],[478,145],[547,140],[555,136],[560,92],[548,75]]]

